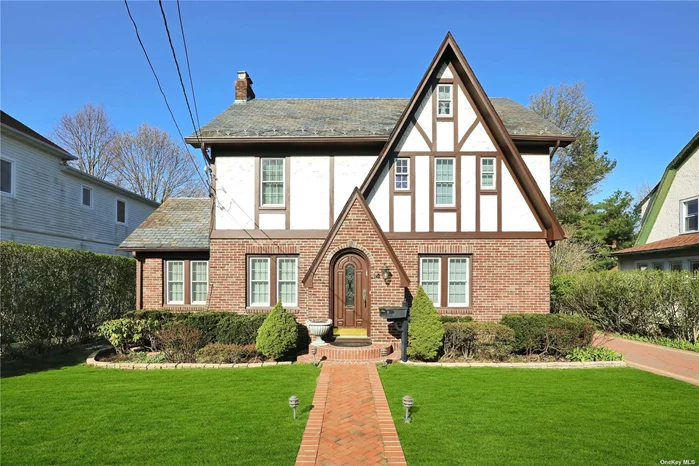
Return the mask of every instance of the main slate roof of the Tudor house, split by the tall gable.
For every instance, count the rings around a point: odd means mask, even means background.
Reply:
[[[491,98],[511,135],[572,137],[514,100]],[[253,99],[201,128],[206,138],[388,137],[409,99]],[[190,138],[194,138],[191,135]]]

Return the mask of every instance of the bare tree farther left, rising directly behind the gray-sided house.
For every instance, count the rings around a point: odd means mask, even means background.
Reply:
[[[104,105],[89,103],[72,115],[64,114],[51,136],[78,157],[76,164],[80,170],[107,179],[114,171],[110,146],[116,134]]]

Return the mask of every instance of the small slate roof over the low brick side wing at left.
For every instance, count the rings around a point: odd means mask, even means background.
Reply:
[[[208,249],[211,199],[170,198],[136,228],[120,250]]]

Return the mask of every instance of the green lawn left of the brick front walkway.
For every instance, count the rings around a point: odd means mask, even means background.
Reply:
[[[122,371],[85,357],[3,367],[3,465],[294,463],[317,368]]]

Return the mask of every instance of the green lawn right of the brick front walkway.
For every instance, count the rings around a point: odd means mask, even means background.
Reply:
[[[699,387],[630,368],[379,369],[408,464],[699,460]],[[415,399],[401,421],[403,395]]]

